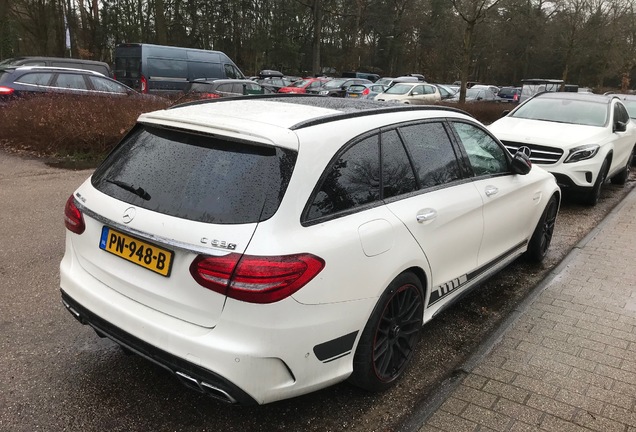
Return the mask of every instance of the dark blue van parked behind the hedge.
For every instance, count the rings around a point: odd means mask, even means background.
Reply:
[[[115,79],[141,93],[182,92],[197,78],[245,78],[221,51],[152,44],[115,47]]]

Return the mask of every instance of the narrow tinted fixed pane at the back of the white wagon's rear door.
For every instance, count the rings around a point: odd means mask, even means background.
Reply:
[[[395,130],[382,133],[382,184],[383,198],[417,190],[413,168]]]

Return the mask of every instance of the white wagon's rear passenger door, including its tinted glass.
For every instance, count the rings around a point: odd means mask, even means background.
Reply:
[[[385,188],[384,196],[389,210],[407,227],[429,261],[430,307],[465,286],[467,275],[477,266],[483,230],[482,200],[472,183],[463,181],[464,174],[442,122],[382,132],[383,178],[396,179],[384,180],[385,184],[399,184],[405,177],[397,168],[408,166],[409,160],[396,163],[396,169],[387,164],[402,147],[400,137],[415,170],[417,189],[404,196],[402,191]],[[391,199],[400,193],[399,199]]]

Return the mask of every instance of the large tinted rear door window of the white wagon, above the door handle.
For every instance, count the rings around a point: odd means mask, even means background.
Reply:
[[[421,188],[439,186],[462,177],[450,138],[441,123],[400,128],[415,165]]]

